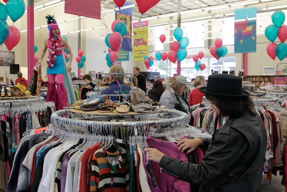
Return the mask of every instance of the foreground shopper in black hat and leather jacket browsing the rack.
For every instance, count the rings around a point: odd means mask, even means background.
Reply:
[[[149,160],[160,163],[163,171],[180,180],[201,185],[201,191],[259,191],[266,150],[266,130],[254,110],[242,80],[230,74],[208,77],[207,87],[199,88],[210,101],[210,108],[227,122],[211,139],[180,140],[179,151],[199,145],[207,149],[201,164],[182,162],[157,149],[148,148]],[[221,123],[221,122],[220,122]]]

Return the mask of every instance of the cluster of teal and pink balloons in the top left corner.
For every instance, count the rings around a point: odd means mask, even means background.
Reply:
[[[6,5],[0,3],[0,45],[4,43],[9,51],[19,43],[21,35],[15,26],[8,26],[6,19],[9,15],[13,22],[17,21],[22,17],[25,9],[23,0],[9,0]]]

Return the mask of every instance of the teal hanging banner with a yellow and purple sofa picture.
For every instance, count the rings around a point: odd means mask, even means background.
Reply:
[[[234,11],[234,53],[256,52],[256,7],[236,9]]]

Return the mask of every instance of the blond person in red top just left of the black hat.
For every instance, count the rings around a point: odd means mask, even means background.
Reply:
[[[202,97],[205,95],[204,93],[201,93],[198,91],[199,87],[205,87],[206,86],[206,80],[204,76],[197,76],[194,80],[196,89],[193,89],[189,95],[189,105],[196,105],[198,103],[202,102]]]

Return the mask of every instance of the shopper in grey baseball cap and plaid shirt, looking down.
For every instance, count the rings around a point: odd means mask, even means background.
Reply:
[[[189,104],[182,96],[186,88],[191,89],[187,79],[182,75],[177,76],[172,84],[162,93],[160,104],[165,105],[166,109],[175,109],[189,114]]]

